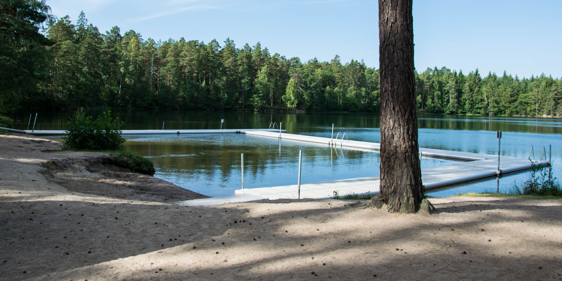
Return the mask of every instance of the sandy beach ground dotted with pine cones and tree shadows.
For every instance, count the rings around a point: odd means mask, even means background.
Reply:
[[[562,202],[432,198],[210,207],[103,153],[0,136],[0,280],[562,280]]]

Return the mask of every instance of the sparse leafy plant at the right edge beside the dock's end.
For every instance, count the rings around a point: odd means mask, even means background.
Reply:
[[[527,175],[527,180],[522,186],[513,183],[515,194],[525,195],[542,195],[542,196],[562,196],[562,188],[560,183],[556,181],[556,177],[552,176],[552,169],[549,164],[548,168],[537,165],[532,162],[531,171]]]

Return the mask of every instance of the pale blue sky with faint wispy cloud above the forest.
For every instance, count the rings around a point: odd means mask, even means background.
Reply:
[[[226,38],[238,48],[260,42],[271,54],[316,57],[378,68],[377,1],[304,0],[47,0],[72,22],[84,11],[102,33],[119,26],[144,39]],[[502,75],[562,78],[562,1],[414,1],[414,63],[418,72],[446,66]]]

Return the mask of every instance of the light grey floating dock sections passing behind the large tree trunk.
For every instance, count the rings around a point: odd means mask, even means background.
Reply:
[[[310,135],[281,134],[277,131],[265,132],[252,130],[241,132],[244,134],[258,135],[305,142],[324,143],[328,146],[341,146],[350,149],[369,149],[380,151],[380,143],[360,142],[356,140],[341,140],[334,138],[314,137]],[[419,148],[422,157],[436,157],[454,160],[464,160],[457,164],[437,166],[422,169],[422,182],[424,189],[445,187],[447,185],[469,182],[471,180],[487,178],[499,174],[526,170],[535,165],[548,165],[549,161],[529,160],[528,158],[500,156],[500,170],[498,171],[497,155],[472,153],[462,151],[447,151],[442,149]],[[300,198],[330,198],[337,192],[343,197],[347,194],[374,194],[379,192],[380,179],[378,176],[365,176],[362,178],[330,180],[320,183],[301,184]],[[212,197],[196,200],[176,202],[185,206],[210,206],[223,203],[247,202],[253,200],[276,200],[280,198],[297,198],[297,184],[282,185],[278,187],[244,188],[234,191],[234,196]]]

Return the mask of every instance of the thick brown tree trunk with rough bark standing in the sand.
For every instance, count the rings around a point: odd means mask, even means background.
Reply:
[[[367,206],[414,213],[424,199],[414,86],[413,0],[379,0],[380,191]]]

